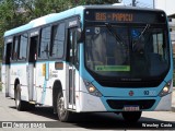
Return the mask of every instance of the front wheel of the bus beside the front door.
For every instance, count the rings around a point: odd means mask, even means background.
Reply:
[[[63,99],[62,92],[58,93],[58,97],[57,97],[57,112],[58,112],[58,119],[61,122],[68,122],[68,121],[71,120],[72,112],[70,112],[69,110],[67,110],[65,108],[65,99]]]

